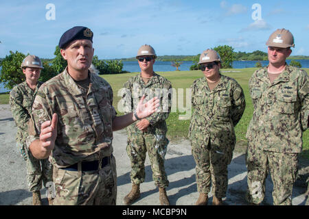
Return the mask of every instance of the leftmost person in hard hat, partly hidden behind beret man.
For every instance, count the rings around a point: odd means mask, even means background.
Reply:
[[[39,57],[27,55],[21,64],[25,81],[15,86],[10,92],[10,106],[17,126],[16,145],[21,156],[26,161],[27,183],[32,192],[33,205],[41,205],[42,183],[47,187],[47,182],[52,181],[52,165],[48,159],[36,159],[27,150],[26,138],[28,136],[28,123],[32,114],[32,104],[38,88],[42,82],[38,81],[43,68]],[[52,204],[52,198],[48,197]]]

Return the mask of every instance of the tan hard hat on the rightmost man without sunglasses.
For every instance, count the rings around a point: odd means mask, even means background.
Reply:
[[[277,29],[268,38],[266,45],[279,48],[295,47],[294,37],[288,29]]]

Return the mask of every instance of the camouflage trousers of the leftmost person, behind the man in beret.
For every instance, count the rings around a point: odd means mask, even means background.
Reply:
[[[41,190],[42,184],[45,188],[47,183],[53,181],[53,166],[48,159],[36,159],[30,151],[27,151],[27,183],[30,192]]]

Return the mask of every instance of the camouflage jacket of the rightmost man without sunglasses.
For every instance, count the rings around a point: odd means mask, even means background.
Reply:
[[[265,151],[300,153],[309,116],[306,71],[287,65],[271,83],[266,66],[253,73],[249,90],[254,112],[247,139]]]

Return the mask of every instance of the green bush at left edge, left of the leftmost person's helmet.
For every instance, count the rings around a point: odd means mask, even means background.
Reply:
[[[12,89],[16,84],[25,81],[25,75],[21,70],[21,63],[25,55],[16,51],[13,53],[10,51],[10,55],[6,55],[1,62],[1,74],[0,81],[5,83],[5,88]]]

